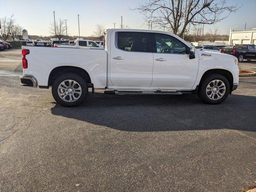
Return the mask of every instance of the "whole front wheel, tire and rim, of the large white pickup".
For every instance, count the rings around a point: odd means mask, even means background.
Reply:
[[[198,97],[207,104],[223,102],[230,92],[230,84],[226,77],[220,74],[210,74],[200,83]]]

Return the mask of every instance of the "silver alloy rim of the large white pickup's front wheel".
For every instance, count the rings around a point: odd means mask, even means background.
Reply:
[[[225,92],[226,86],[221,80],[213,80],[206,87],[206,94],[211,100],[219,100]]]

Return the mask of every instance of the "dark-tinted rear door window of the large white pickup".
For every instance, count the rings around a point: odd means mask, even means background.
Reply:
[[[118,32],[117,46],[125,51],[152,52],[151,34],[144,32]]]

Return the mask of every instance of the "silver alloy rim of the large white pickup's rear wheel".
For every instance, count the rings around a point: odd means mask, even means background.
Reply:
[[[82,94],[81,86],[74,80],[64,80],[58,86],[58,95],[66,102],[74,102]]]

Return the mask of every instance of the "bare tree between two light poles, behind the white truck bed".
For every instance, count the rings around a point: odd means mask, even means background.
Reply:
[[[55,34],[55,26],[54,22],[50,23],[49,27],[50,34],[54,36],[55,38],[58,38],[58,40],[61,40],[66,34],[66,24],[65,21],[61,18],[59,18],[56,21],[56,34]]]

